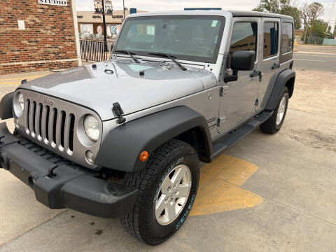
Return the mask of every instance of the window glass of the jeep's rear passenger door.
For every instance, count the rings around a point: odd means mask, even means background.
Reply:
[[[264,59],[278,53],[279,23],[264,23]]]

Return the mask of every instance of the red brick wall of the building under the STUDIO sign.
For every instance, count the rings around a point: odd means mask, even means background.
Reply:
[[[25,30],[18,29],[18,20],[25,21]],[[64,59],[70,61],[59,61]],[[69,68],[78,66],[76,59],[71,0],[66,7],[0,0],[0,75]]]

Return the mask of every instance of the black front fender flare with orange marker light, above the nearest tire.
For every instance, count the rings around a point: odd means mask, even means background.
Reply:
[[[207,120],[186,106],[144,116],[111,130],[102,142],[95,164],[122,172],[136,172],[146,167],[139,160],[142,151],[151,156],[165,142],[195,127],[204,138],[204,154],[211,156],[212,141]]]

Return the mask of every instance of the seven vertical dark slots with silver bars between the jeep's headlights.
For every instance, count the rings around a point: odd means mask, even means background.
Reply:
[[[33,99],[26,99],[25,106],[27,134],[52,148],[72,155],[75,116]]]

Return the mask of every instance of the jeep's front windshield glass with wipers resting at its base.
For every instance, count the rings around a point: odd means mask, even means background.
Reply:
[[[205,15],[127,18],[113,50],[144,56],[162,52],[176,59],[216,63],[224,23],[224,17]]]

